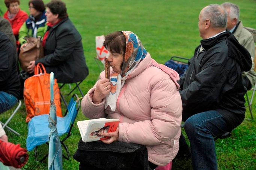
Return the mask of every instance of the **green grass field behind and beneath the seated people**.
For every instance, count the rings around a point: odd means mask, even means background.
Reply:
[[[21,0],[20,7],[28,12],[28,1]],[[48,2],[49,0],[45,1]],[[81,88],[84,94],[95,84],[100,69],[95,63],[95,36],[113,31],[130,30],[139,36],[143,46],[158,63],[164,63],[171,56],[192,57],[194,49],[199,45],[198,15],[200,10],[211,3],[221,4],[223,0],[65,0],[68,15],[83,37],[84,54],[89,76],[83,81]],[[240,7],[240,19],[247,27],[256,28],[256,0],[231,0]],[[3,1],[0,8],[5,12]],[[68,86],[63,90],[67,92]],[[78,93],[78,91],[76,91]],[[251,92],[248,92],[251,94]],[[256,98],[253,103],[253,115],[256,118]],[[64,109],[63,109],[64,110]],[[6,121],[11,111],[0,115]],[[24,103],[14,116],[9,126],[21,133],[15,136],[8,130],[9,141],[20,143],[26,148],[27,123]],[[86,119],[81,110],[76,121]],[[224,169],[256,169],[256,123],[251,120],[247,110],[244,122],[232,131],[232,136],[216,141],[218,168]],[[75,123],[72,135],[66,140],[71,155],[77,149],[80,133]],[[39,157],[48,152],[47,145],[38,149]],[[64,150],[63,150],[64,151]],[[65,152],[64,152],[65,153]],[[23,169],[45,170],[48,160],[43,163],[35,161],[34,151],[29,152],[29,160]],[[73,158],[63,159],[63,169],[78,169],[78,162]],[[192,169],[191,160],[175,160],[173,169]]]

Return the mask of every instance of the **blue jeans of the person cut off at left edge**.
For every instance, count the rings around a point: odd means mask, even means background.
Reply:
[[[0,113],[11,109],[17,101],[18,99],[14,95],[0,91]]]

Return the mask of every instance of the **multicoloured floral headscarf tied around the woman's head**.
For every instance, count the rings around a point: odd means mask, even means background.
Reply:
[[[125,84],[129,74],[138,66],[140,61],[146,57],[147,51],[140,42],[139,37],[131,31],[122,31],[126,38],[125,55],[121,73],[111,74],[111,92],[106,97],[105,108],[109,105],[112,111],[116,110],[118,95]]]

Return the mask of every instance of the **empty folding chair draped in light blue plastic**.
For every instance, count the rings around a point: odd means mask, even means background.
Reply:
[[[74,97],[76,100],[74,100]],[[59,136],[66,133],[66,136],[60,141],[61,145],[66,150],[67,156],[63,155],[63,157],[68,160],[70,157],[67,146],[65,145],[65,140],[71,135],[71,130],[75,122],[75,118],[77,117],[78,110],[80,108],[80,101],[77,94],[72,95],[71,100],[69,101],[68,108],[66,109],[65,115],[63,118],[57,116],[57,131]],[[49,145],[48,134],[50,128],[48,127],[48,117],[49,115],[39,115],[34,116],[29,124],[28,124],[28,136],[27,136],[27,150],[32,151],[35,148],[35,158],[38,161],[37,156],[37,147],[46,143]],[[48,157],[46,154],[40,162],[45,160]]]

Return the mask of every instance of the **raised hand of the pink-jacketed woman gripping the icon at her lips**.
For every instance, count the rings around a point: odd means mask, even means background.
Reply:
[[[92,102],[99,104],[110,93],[110,82],[108,79],[100,79],[92,95]]]

